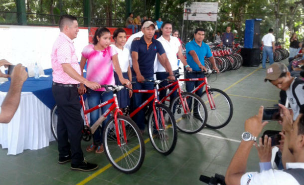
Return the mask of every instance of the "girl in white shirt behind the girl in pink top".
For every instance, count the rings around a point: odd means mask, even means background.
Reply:
[[[111,47],[113,47],[118,53],[118,61],[123,73],[123,77],[132,81],[132,73],[130,68],[130,60],[131,60],[130,50],[124,47],[124,45],[127,42],[126,31],[123,28],[117,28],[113,33],[113,39],[115,40],[115,45],[112,44]],[[115,72],[114,68],[113,70],[114,70],[115,84],[122,85],[119,81],[118,75]],[[132,91],[129,91],[126,88],[120,90],[117,93],[119,107],[125,108],[127,106],[130,106],[131,96],[132,96]]]

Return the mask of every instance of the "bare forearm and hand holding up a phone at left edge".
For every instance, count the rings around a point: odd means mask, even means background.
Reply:
[[[0,60],[0,66],[8,67],[9,65],[12,64],[7,60]],[[24,66],[18,64],[13,68],[10,75],[3,74],[0,71],[0,77],[11,78],[9,90],[0,107],[0,123],[9,123],[19,106],[21,89],[27,79],[27,72]]]

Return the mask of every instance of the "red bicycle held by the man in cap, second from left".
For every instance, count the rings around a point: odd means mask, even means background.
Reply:
[[[143,82],[153,82],[154,85],[157,85],[162,81],[144,80]],[[152,146],[161,154],[170,154],[174,150],[177,141],[176,123],[172,112],[168,107],[161,104],[159,100],[157,100],[157,89],[155,86],[153,90],[133,89],[133,93],[152,94],[148,100],[143,102],[138,108],[130,113],[130,117],[132,118],[135,114],[152,102],[152,107],[150,107],[148,111],[148,133],[150,141]]]

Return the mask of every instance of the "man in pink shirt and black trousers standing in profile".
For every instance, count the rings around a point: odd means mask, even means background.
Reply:
[[[100,88],[100,85],[81,76],[72,41],[79,31],[77,18],[68,14],[62,15],[59,19],[59,28],[60,33],[53,44],[51,53],[52,92],[58,110],[58,163],[72,161],[72,170],[92,171],[97,169],[98,165],[88,163],[81,150],[83,121],[77,86],[81,82],[95,90]]]

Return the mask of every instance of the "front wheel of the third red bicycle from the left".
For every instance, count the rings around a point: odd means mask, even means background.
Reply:
[[[186,114],[184,113],[184,109],[182,107],[179,95],[177,95],[172,100],[172,105],[170,107],[170,110],[173,113],[174,118],[176,120],[177,129],[180,130],[181,132],[188,134],[194,134],[201,131],[206,125],[208,119],[208,112],[206,105],[198,95],[190,92],[183,92],[181,94],[181,97],[187,99],[186,103],[190,105],[189,106],[190,112],[187,112]],[[196,115],[194,115],[195,113],[194,111],[192,111],[192,105],[194,104],[199,104],[197,106],[198,110]]]

